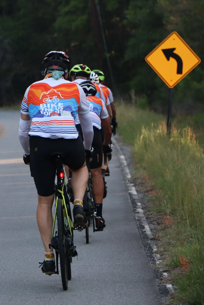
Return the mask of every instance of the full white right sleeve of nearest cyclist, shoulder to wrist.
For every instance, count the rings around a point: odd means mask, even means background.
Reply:
[[[83,89],[78,86],[80,92],[80,105],[78,109],[78,117],[80,120],[82,132],[83,132],[83,141],[84,141],[84,148],[87,150],[91,149],[91,144],[94,137],[94,130],[91,121],[91,113],[89,109],[89,105],[87,102],[87,98]]]

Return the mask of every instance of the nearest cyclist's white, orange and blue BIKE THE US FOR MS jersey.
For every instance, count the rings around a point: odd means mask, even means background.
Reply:
[[[64,78],[49,77],[33,83],[21,103],[21,113],[31,118],[29,135],[43,138],[77,138],[77,112],[90,112],[86,95],[78,84]]]

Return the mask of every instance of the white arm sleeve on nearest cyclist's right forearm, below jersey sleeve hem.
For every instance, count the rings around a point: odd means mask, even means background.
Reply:
[[[91,114],[89,113],[82,114],[78,113],[82,132],[83,132],[83,142],[84,142],[84,148],[87,150],[91,149],[91,144],[94,137],[94,130],[93,125],[91,121]]]

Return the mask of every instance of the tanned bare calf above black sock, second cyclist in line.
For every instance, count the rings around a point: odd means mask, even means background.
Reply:
[[[93,193],[95,203],[103,203],[104,183],[101,173],[101,167],[91,169],[91,176],[93,178]]]

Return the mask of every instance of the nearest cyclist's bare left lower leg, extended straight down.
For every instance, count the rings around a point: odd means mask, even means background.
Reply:
[[[53,216],[52,205],[54,201],[54,194],[48,197],[38,195],[38,207],[37,207],[37,223],[40,231],[40,235],[43,241],[45,252],[49,253],[53,251],[53,248],[49,248],[49,244],[52,238]]]

